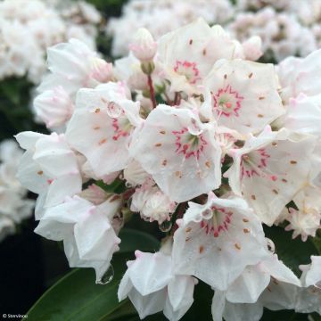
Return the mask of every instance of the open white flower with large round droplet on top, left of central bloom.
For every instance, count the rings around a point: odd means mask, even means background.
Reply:
[[[131,135],[141,121],[139,103],[129,99],[123,83],[110,82],[78,91],[66,136],[70,145],[86,156],[97,177],[128,164]]]

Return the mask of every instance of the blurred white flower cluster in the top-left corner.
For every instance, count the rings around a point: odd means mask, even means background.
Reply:
[[[27,76],[37,84],[48,46],[77,37],[95,48],[100,13],[85,2],[4,0],[0,3],[0,79]]]

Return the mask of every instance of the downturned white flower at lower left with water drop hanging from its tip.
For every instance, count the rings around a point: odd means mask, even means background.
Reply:
[[[50,240],[63,241],[70,268],[95,268],[96,282],[110,267],[111,257],[119,250],[119,238],[111,219],[120,200],[99,206],[78,196],[45,210],[35,230]]]

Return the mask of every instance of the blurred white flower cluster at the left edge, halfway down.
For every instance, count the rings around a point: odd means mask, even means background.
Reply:
[[[0,241],[14,233],[15,226],[32,215],[34,202],[15,177],[22,151],[12,140],[0,144]]]

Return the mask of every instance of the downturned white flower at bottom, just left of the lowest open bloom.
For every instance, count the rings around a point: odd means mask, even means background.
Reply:
[[[136,259],[128,261],[128,270],[119,284],[119,300],[126,297],[134,304],[139,317],[163,310],[171,321],[177,321],[193,303],[193,276],[172,274],[171,258],[162,251],[136,251]]]

